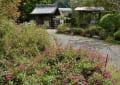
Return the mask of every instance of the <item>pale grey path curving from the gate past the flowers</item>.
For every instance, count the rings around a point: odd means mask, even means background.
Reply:
[[[72,44],[75,49],[80,46],[88,46],[91,49],[95,49],[104,56],[109,55],[113,59],[110,64],[120,68],[120,45],[113,45],[105,43],[102,40],[86,38],[81,36],[69,36],[64,34],[56,34],[56,30],[48,30],[48,33],[52,37],[56,37],[63,45]]]

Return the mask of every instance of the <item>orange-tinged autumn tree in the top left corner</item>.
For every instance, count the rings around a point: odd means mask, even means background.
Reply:
[[[0,13],[12,19],[20,16],[18,6],[21,0],[0,0]]]

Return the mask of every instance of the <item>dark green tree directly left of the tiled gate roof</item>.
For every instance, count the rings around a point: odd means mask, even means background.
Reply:
[[[50,4],[51,0],[22,0],[19,10],[21,12],[20,19],[28,21],[31,19],[30,13],[35,8],[36,4]]]

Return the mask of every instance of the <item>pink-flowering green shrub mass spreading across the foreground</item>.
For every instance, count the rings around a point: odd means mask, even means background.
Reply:
[[[52,50],[51,50],[52,49]],[[113,85],[105,57],[87,47],[50,47],[36,57],[0,59],[0,83],[27,85]]]

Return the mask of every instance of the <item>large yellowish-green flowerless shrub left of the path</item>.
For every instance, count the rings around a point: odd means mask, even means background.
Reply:
[[[10,31],[6,30],[6,34],[1,39],[1,55],[8,58],[21,55],[35,56],[50,46],[50,37],[46,30],[39,28],[34,23],[31,25],[24,23],[19,28],[13,27],[12,22],[9,21],[9,23],[5,29],[10,29]]]

